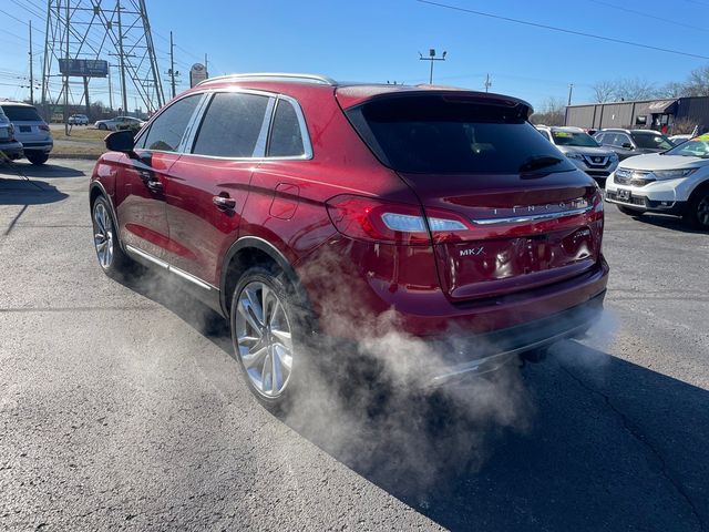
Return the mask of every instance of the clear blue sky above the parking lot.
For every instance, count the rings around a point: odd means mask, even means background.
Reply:
[[[84,0],[85,1],[85,0]],[[441,3],[709,57],[709,0],[438,0]],[[104,0],[111,4],[110,0]],[[415,0],[146,0],[161,71],[167,35],[177,69],[209,57],[210,74],[249,71],[318,72],[339,80],[428,81],[419,52],[448,51],[434,82],[513,94],[538,106],[547,96],[590,101],[594,82],[641,78],[658,85],[684,81],[708,59],[676,55],[452,11]],[[0,10],[43,30],[44,0],[0,0]],[[179,6],[179,7],[177,7]],[[621,8],[621,9],[618,9]],[[635,10],[649,17],[630,13]],[[34,11],[35,14],[31,14]],[[656,17],[665,20],[657,20]],[[0,12],[0,96],[24,98],[28,28]],[[676,23],[672,23],[676,22]],[[684,25],[682,25],[684,24]],[[688,28],[693,27],[693,28]],[[35,66],[43,35],[35,33]],[[178,85],[186,89],[187,76]],[[102,82],[96,82],[102,83]],[[115,95],[117,90],[114,88]],[[107,101],[107,90],[97,99]]]

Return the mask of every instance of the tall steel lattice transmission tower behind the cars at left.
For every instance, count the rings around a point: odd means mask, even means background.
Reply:
[[[119,69],[124,114],[129,95],[148,112],[163,105],[165,96],[145,0],[48,0],[47,4],[42,68],[45,114],[61,106],[66,123],[69,105],[83,104],[89,111],[89,84],[106,76],[110,84],[110,63]],[[82,78],[83,83],[72,81],[74,78]],[[105,93],[105,81],[100,83]],[[76,84],[83,86],[76,90]]]

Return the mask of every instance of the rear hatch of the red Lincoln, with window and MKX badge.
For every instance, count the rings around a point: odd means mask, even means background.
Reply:
[[[504,96],[420,91],[348,109],[360,136],[420,198],[452,300],[577,276],[599,259],[600,194]]]

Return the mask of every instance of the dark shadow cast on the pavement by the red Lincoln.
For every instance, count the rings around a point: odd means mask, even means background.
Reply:
[[[146,276],[123,284],[234,356],[222,317]],[[708,391],[576,341],[499,375],[398,398],[340,379],[278,419],[450,530],[707,530]]]

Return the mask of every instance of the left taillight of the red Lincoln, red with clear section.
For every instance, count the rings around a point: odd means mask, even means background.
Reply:
[[[430,245],[460,239],[458,233],[473,231],[456,213],[427,209],[363,196],[341,195],[327,202],[332,224],[343,235],[366,241]]]

